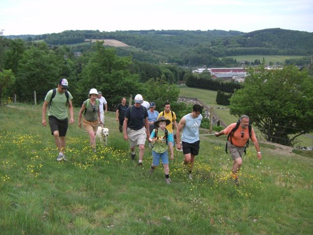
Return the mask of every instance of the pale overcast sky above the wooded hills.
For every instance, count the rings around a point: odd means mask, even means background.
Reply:
[[[0,0],[3,35],[65,30],[313,32],[313,0]]]

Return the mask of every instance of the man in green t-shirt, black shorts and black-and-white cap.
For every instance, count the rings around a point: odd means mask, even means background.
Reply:
[[[58,87],[50,90],[45,96],[45,102],[42,112],[42,124],[47,125],[45,120],[45,113],[49,105],[48,117],[51,134],[54,136],[55,144],[59,150],[59,156],[57,161],[67,160],[65,156],[66,149],[66,134],[68,128],[67,110],[66,105],[68,102],[69,110],[69,123],[74,123],[74,111],[72,105],[73,96],[67,91],[68,82],[67,79],[62,78],[58,83]]]

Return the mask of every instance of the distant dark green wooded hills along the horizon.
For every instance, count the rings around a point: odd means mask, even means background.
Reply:
[[[235,55],[313,54],[313,33],[280,28],[249,33],[207,30],[67,30],[44,35],[8,36],[27,41],[45,40],[49,45],[71,45],[74,51],[91,47],[85,39],[115,39],[132,47],[116,48],[118,55],[151,63],[178,63],[184,66],[237,66]]]

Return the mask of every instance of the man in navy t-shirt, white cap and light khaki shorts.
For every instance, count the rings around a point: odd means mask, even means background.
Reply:
[[[136,94],[134,98],[135,104],[126,110],[125,119],[123,123],[124,140],[129,141],[132,151],[132,160],[134,160],[135,147],[139,145],[139,162],[142,166],[143,155],[145,153],[145,142],[150,137],[148,112],[141,104],[143,98],[141,94]]]

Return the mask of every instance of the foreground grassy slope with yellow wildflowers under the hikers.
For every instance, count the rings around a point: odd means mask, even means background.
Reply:
[[[235,187],[225,137],[205,136],[194,180],[175,150],[166,185],[160,167],[148,174],[150,149],[143,168],[130,160],[114,113],[106,116],[108,146],[97,142],[93,154],[77,127],[78,110],[67,133],[68,161],[59,163],[49,127],[41,125],[41,106],[0,107],[1,234],[312,233],[311,158],[263,145],[260,162],[251,144]]]

